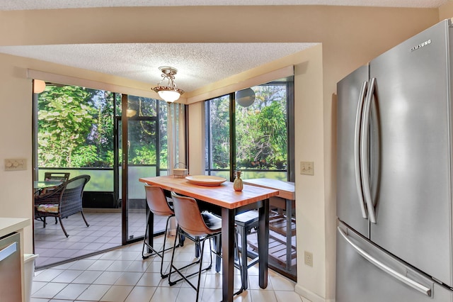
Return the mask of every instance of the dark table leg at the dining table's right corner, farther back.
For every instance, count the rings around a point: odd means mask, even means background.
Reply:
[[[261,289],[268,287],[269,262],[269,199],[263,200],[263,206],[258,209],[258,263],[259,284]]]

